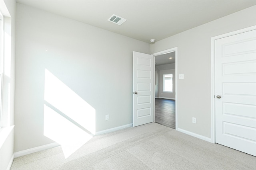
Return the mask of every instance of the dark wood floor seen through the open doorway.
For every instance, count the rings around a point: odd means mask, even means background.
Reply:
[[[175,100],[156,99],[156,123],[175,129]]]

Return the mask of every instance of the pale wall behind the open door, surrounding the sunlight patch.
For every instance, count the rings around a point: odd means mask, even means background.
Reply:
[[[45,69],[95,109],[96,131],[132,123],[132,51],[150,54],[148,43],[19,3],[16,12],[15,152],[54,142],[44,136]]]

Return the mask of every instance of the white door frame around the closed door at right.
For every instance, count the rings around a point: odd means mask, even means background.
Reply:
[[[211,143],[215,143],[215,40],[256,29],[256,25],[211,38]]]

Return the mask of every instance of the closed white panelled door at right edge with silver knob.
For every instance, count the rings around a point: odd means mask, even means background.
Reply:
[[[256,30],[215,40],[216,143],[256,156]]]

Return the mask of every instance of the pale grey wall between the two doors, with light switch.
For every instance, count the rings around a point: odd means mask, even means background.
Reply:
[[[211,137],[211,37],[252,25],[256,6],[151,44],[151,53],[178,47],[178,74],[184,74],[178,79],[178,128]]]

